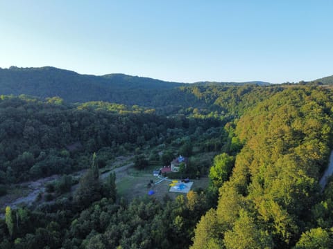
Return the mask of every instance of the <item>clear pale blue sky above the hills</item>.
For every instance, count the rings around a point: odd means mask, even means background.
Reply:
[[[0,67],[178,82],[333,75],[332,0],[0,0]]]

